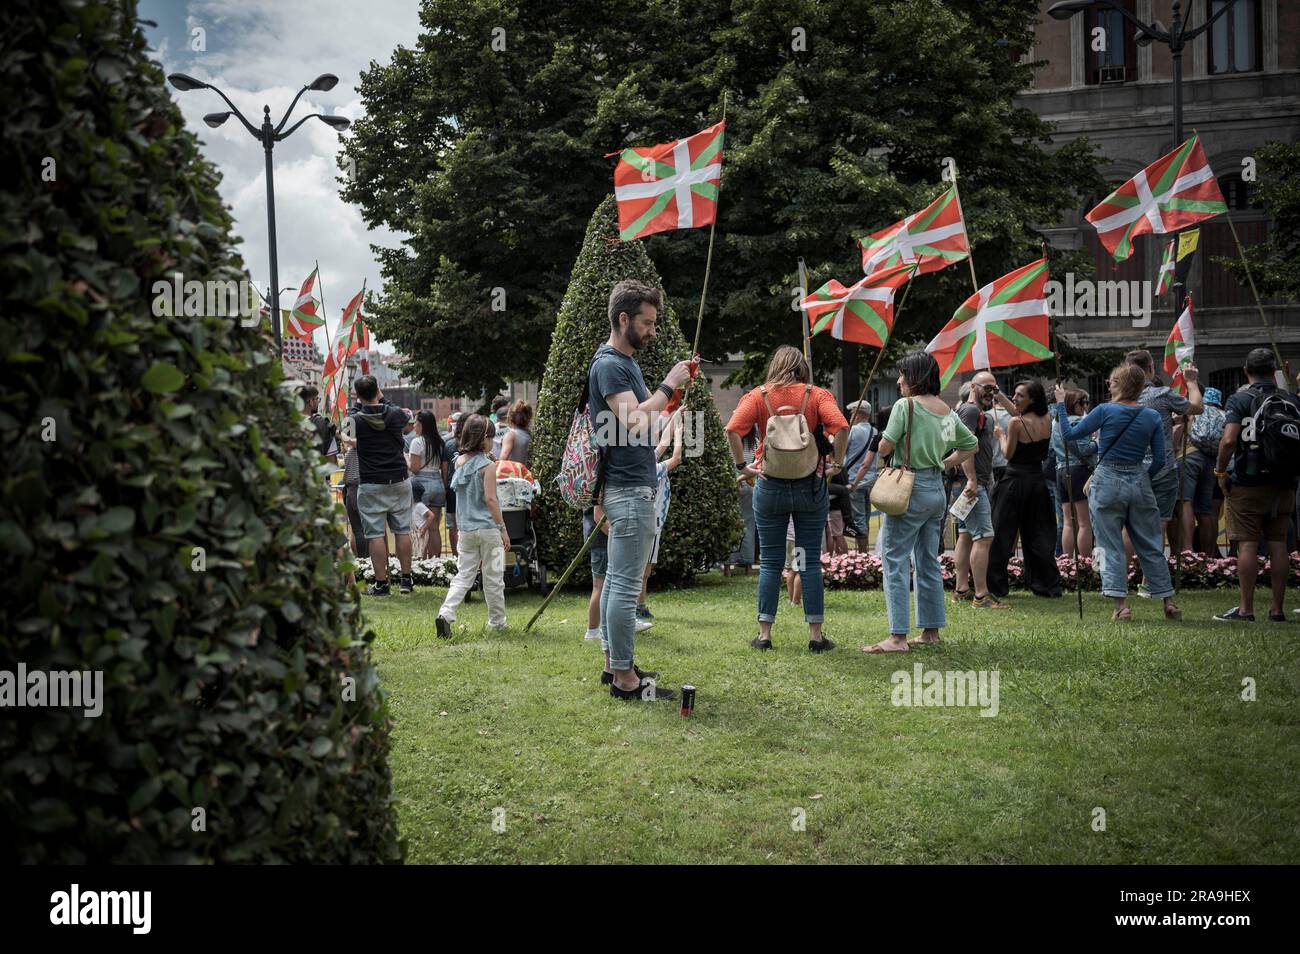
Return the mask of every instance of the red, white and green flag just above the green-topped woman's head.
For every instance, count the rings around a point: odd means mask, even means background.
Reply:
[[[967,370],[1005,368],[1052,357],[1048,347],[1048,261],[1039,259],[985,285],[958,308],[926,351],[942,383]]]

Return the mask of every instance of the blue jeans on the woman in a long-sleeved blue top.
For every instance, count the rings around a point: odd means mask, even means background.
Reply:
[[[1104,597],[1128,595],[1128,556],[1122,534],[1124,528],[1138,551],[1150,595],[1161,599],[1174,595],[1169,564],[1165,561],[1160,509],[1144,464],[1101,461],[1088,489],[1088,512],[1092,515],[1092,533],[1101,551],[1098,556],[1102,560]]]

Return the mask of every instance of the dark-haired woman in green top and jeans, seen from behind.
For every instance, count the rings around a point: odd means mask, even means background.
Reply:
[[[975,435],[939,398],[939,363],[924,351],[913,351],[898,361],[898,393],[880,438],[880,456],[897,448],[900,460],[913,472],[907,511],[885,516],[880,528],[884,559],[885,608],[889,638],[863,652],[906,652],[916,643],[937,643],[944,615],[944,572],[939,564],[939,532],[948,499],[942,471],[957,468],[975,455]],[[910,446],[907,434],[911,434]],[[909,641],[907,606],[910,563],[916,565],[916,625],[922,634]]]

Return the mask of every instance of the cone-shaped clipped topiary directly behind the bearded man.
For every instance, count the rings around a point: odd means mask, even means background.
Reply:
[[[586,226],[582,251],[555,320],[555,337],[537,398],[533,461],[543,489],[550,489],[542,498],[538,535],[542,559],[555,573],[582,546],[582,519],[564,504],[554,481],[592,356],[610,337],[610,290],[624,278],[663,287],[645,244],[619,240],[618,209],[611,195],[597,207]],[[667,300],[659,309],[656,330],[654,343],[636,355],[651,389],[690,348]],[[686,402],[692,412],[702,412],[703,454],[690,456],[688,448],[672,474],[672,503],[655,569],[655,580],[660,582],[686,582],[707,571],[732,551],[744,532],[736,468],[703,374],[686,391]],[[590,580],[590,564],[580,567],[572,577],[576,584]]]

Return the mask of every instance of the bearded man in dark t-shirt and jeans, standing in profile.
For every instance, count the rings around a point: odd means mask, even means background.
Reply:
[[[633,355],[655,339],[660,294],[628,278],[610,292],[610,339],[588,372],[588,408],[604,450],[602,504],[608,520],[608,560],[601,591],[601,682],[619,699],[671,699],[675,693],[633,664],[642,571],[654,539],[654,424],[677,387],[690,383],[690,364],[677,361],[653,393]]]

